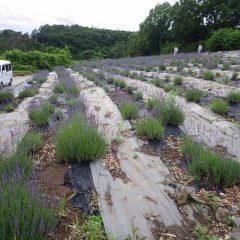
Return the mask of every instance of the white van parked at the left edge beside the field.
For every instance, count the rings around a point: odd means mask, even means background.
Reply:
[[[13,72],[12,64],[9,61],[0,60],[0,89],[4,85],[12,85]]]

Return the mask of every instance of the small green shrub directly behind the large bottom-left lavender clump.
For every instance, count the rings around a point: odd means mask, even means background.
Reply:
[[[43,139],[40,133],[28,132],[18,144],[17,152],[20,155],[34,155],[42,145]]]

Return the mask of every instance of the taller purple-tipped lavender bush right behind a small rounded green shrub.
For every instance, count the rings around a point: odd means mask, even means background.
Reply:
[[[176,104],[174,98],[169,98],[164,102],[159,102],[153,108],[154,116],[159,119],[162,124],[177,126],[184,122],[185,116]]]

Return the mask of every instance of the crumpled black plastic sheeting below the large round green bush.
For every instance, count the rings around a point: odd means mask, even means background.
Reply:
[[[77,192],[71,199],[72,205],[91,215],[91,196],[95,188],[89,163],[72,165],[64,177],[64,184]]]

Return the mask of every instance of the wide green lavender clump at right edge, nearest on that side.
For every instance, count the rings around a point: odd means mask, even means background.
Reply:
[[[182,152],[190,157],[189,171],[197,178],[208,177],[218,186],[230,187],[240,180],[240,164],[184,136]]]

